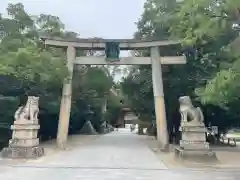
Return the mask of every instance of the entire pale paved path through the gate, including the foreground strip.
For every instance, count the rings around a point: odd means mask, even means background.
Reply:
[[[238,177],[238,178],[237,178]],[[142,136],[126,130],[101,136],[50,159],[6,168],[0,180],[205,180],[239,179],[229,172],[170,170],[147,147]]]

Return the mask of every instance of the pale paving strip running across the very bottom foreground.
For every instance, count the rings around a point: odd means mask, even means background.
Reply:
[[[238,180],[239,173],[84,168],[14,168],[14,173],[0,174],[4,180]]]

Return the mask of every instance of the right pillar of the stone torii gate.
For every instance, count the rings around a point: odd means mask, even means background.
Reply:
[[[163,79],[158,47],[151,47],[152,83],[157,124],[157,139],[162,149],[168,148],[168,131],[164,103]]]

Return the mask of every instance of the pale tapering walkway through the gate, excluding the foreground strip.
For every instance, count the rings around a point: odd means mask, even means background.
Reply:
[[[141,136],[115,132],[84,147],[58,153],[51,161],[26,163],[37,167],[167,169],[144,144]]]

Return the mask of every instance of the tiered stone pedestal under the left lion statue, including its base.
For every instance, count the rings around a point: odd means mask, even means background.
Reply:
[[[38,158],[43,156],[44,149],[39,147],[37,121],[16,120],[11,126],[12,139],[9,147],[2,150],[4,158]]]

